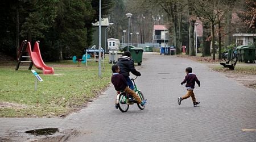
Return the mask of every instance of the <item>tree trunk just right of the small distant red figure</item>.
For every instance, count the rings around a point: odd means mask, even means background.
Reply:
[[[196,20],[191,20],[191,22],[189,22],[189,55],[190,56],[195,56],[196,52],[195,52],[195,38],[194,38],[194,28],[195,28],[195,23]]]

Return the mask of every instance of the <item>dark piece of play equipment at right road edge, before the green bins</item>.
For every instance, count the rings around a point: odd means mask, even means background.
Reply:
[[[227,59],[228,59],[228,61],[220,62],[220,64],[223,65],[225,68],[229,68],[230,70],[234,70],[234,68],[237,64],[236,49],[229,49]]]

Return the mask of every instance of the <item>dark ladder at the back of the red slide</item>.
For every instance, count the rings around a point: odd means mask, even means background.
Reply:
[[[22,65],[20,65],[21,63]],[[27,53],[27,40],[24,40],[22,41],[22,45],[19,47],[15,70],[18,70],[19,67],[28,67],[28,70],[31,70],[32,66],[33,62],[31,61],[31,57]]]

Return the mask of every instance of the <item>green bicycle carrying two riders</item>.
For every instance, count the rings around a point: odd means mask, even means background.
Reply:
[[[134,91],[135,93],[141,98],[141,100],[144,100],[144,95],[142,94],[142,91],[138,89],[138,87],[135,84],[136,78],[131,78],[131,81],[134,83]],[[129,105],[133,105],[134,103],[137,103],[139,109],[143,110],[145,107],[141,106],[136,100],[132,99],[129,100],[130,95],[127,94],[125,91],[117,91],[117,99],[115,102],[115,105],[119,108],[120,111],[126,112],[129,109]]]

